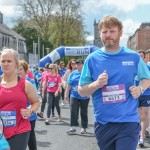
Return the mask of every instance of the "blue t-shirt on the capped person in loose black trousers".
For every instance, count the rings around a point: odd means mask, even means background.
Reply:
[[[78,84],[80,79],[81,72],[78,70],[73,71],[68,78],[67,84],[71,85],[70,97],[74,97],[81,100],[87,100],[87,96],[80,96],[78,93]]]

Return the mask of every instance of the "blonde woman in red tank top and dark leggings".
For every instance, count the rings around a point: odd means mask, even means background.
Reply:
[[[4,121],[4,135],[11,150],[26,150],[29,135],[29,117],[40,103],[33,85],[18,76],[19,54],[13,49],[1,53],[3,75],[0,81],[0,116]],[[27,102],[31,107],[27,108]]]

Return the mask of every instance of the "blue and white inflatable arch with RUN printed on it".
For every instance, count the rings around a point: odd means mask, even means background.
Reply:
[[[60,46],[45,57],[43,57],[42,59],[40,59],[39,67],[45,67],[46,63],[54,63],[55,61],[62,59],[65,56],[87,56],[97,49],[99,49],[99,47],[96,46]]]

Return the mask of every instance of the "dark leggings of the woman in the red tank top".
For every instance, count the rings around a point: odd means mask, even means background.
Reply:
[[[11,150],[26,150],[29,141],[30,132],[17,134],[7,139]]]

